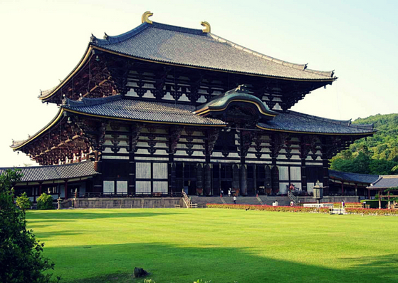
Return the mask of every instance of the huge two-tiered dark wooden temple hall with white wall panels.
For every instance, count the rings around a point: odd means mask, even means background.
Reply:
[[[204,29],[187,29],[150,16],[125,34],[91,36],[70,74],[41,92],[59,112],[11,145],[46,168],[34,168],[21,187],[52,186],[62,197],[76,188],[96,195],[219,195],[229,188],[283,195],[290,184],[312,192],[320,180],[328,195],[328,160],[375,132],[290,110],[332,84],[333,71],[250,50],[212,34],[206,21]],[[40,174],[51,170],[58,175]]]

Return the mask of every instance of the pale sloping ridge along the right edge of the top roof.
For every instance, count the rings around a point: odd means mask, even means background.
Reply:
[[[274,62],[274,63],[279,63],[279,64],[281,64],[281,65],[283,65],[283,66],[288,66],[288,67],[290,67],[290,68],[295,68],[295,69],[298,69],[298,70],[300,70],[300,71],[307,71],[307,72],[309,72],[309,73],[316,73],[316,74],[318,74],[318,75],[320,75],[320,76],[328,76],[328,77],[330,77],[330,78],[333,78],[333,75],[335,74],[335,70],[333,70],[333,71],[317,71],[317,70],[312,70],[312,69],[308,69],[308,68],[307,68],[308,63],[305,63],[305,64],[291,63],[291,62],[288,62],[288,61],[283,61],[283,60],[278,59],[278,58],[274,58],[274,57],[272,57],[272,56],[268,56],[268,55],[263,54],[263,53],[259,53],[259,52],[257,52],[257,51],[254,51],[254,50],[250,49],[250,48],[246,48],[246,47],[241,46],[241,45],[239,45],[239,44],[237,44],[237,43],[234,43],[234,42],[232,42],[232,41],[229,41],[229,40],[226,39],[226,38],[222,38],[221,36],[217,36],[216,34],[211,34],[211,33],[209,33],[209,36],[211,36],[211,37],[212,37],[214,40],[216,40],[216,41],[219,41],[219,42],[221,42],[221,43],[229,44],[229,45],[231,45],[232,47],[235,47],[235,48],[237,48],[237,49],[239,49],[239,50],[241,50],[241,51],[245,51],[245,52],[247,52],[247,53],[249,53],[249,54],[251,54],[251,55],[253,55],[253,56],[257,56],[257,57],[266,59],[266,60],[271,61],[271,62]]]

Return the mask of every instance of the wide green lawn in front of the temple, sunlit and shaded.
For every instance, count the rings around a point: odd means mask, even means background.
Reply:
[[[62,282],[398,282],[398,217],[219,209],[27,212]]]

